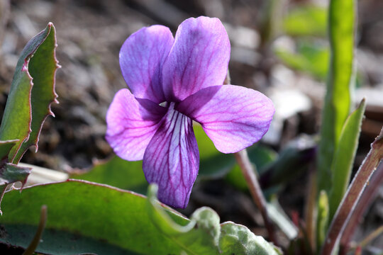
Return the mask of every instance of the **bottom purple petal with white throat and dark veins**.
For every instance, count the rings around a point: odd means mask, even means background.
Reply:
[[[170,105],[143,158],[149,183],[157,183],[158,199],[186,208],[199,169],[199,152],[191,119]]]

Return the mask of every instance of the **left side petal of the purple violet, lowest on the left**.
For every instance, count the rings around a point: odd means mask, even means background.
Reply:
[[[106,113],[106,140],[118,157],[141,160],[165,113],[166,108],[148,99],[136,99],[131,91],[121,89]]]

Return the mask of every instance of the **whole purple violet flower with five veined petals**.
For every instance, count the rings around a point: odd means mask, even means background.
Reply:
[[[143,159],[158,199],[186,208],[199,171],[192,120],[216,148],[238,152],[269,129],[274,107],[265,95],[223,85],[230,42],[218,18],[189,18],[175,38],[165,26],[133,33],[121,47],[120,65],[131,91],[121,89],[106,115],[106,140],[126,160]]]

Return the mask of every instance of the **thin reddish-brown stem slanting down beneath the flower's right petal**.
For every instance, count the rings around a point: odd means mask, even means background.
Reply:
[[[252,199],[254,200],[255,204],[257,205],[258,209],[262,214],[263,221],[265,222],[265,227],[269,234],[269,239],[275,245],[278,245],[277,239],[275,238],[274,234],[274,226],[272,225],[270,217],[267,214],[266,199],[261,191],[260,183],[258,183],[257,176],[255,176],[254,169],[248,157],[248,152],[246,151],[246,149],[243,149],[240,152],[235,153],[234,155],[235,159],[237,159],[237,162],[240,165],[240,169],[242,170],[243,176],[245,177],[245,180],[248,183]]]

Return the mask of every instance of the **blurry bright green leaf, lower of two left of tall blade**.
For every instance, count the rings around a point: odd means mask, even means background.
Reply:
[[[326,79],[330,59],[328,47],[307,40],[299,40],[296,52],[282,47],[275,48],[274,52],[288,67],[311,74],[322,81]]]

